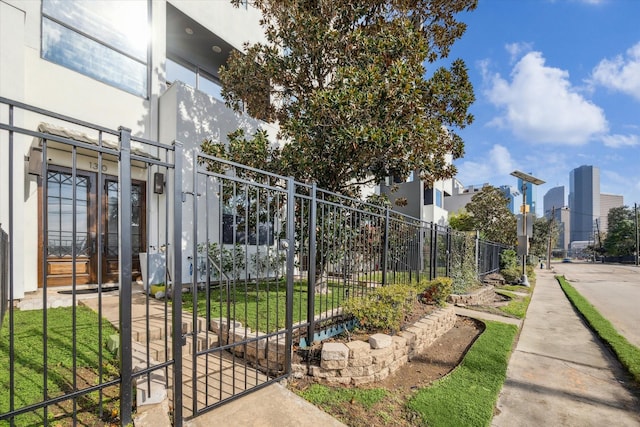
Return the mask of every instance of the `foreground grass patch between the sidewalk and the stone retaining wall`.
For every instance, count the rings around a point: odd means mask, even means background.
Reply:
[[[518,328],[486,321],[460,366],[418,391],[407,406],[429,426],[488,426],[506,378]]]

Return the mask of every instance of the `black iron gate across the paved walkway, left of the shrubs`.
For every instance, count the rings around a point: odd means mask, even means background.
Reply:
[[[185,340],[186,417],[289,374],[294,292],[293,180],[197,150],[192,158],[184,203],[197,291],[184,316],[199,327]]]

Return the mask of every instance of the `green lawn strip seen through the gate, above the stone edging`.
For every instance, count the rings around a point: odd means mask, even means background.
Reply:
[[[345,299],[345,289],[353,296],[362,291],[362,287],[329,282],[328,293],[315,295],[315,314],[323,313],[341,306]],[[252,330],[274,332],[285,327],[285,311],[287,285],[284,281],[238,283],[232,285],[230,293],[231,317]],[[293,322],[307,319],[307,283],[294,283],[293,288]],[[198,315],[205,317],[207,298],[204,291],[197,294]],[[209,291],[211,317],[227,315],[226,292],[212,288]],[[193,310],[193,294],[183,294],[182,308]]]

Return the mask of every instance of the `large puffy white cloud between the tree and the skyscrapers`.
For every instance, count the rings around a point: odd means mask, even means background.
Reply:
[[[503,110],[491,123],[526,141],[580,145],[608,128],[603,110],[571,86],[567,71],[545,66],[540,52],[526,54],[510,82],[493,75],[486,95]]]

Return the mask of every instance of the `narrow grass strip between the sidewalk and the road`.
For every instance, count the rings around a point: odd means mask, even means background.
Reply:
[[[611,322],[605,319],[564,277],[556,276],[556,279],[571,304],[582,314],[589,326],[613,350],[620,363],[627,368],[636,382],[640,384],[640,348],[634,346],[620,335]]]

